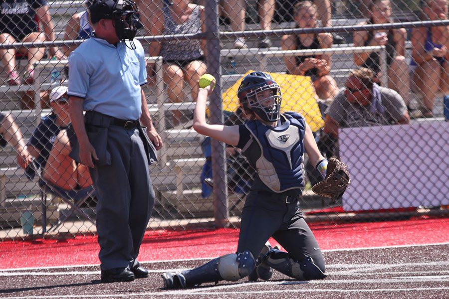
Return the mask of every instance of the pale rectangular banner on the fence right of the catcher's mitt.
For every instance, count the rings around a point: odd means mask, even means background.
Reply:
[[[449,122],[339,130],[345,211],[449,205]]]

